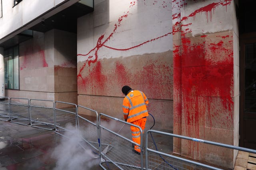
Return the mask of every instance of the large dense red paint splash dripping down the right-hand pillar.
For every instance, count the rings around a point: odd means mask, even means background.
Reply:
[[[186,125],[185,134],[190,137],[202,137],[199,136],[200,127],[211,128],[213,119],[223,129],[233,126],[233,61],[229,55],[220,55],[232,54],[230,46],[219,41],[206,47],[205,41],[191,43],[190,38],[182,38],[182,115]],[[213,61],[206,58],[210,55],[214,55]],[[225,119],[220,119],[225,114]],[[216,120],[216,117],[219,119]],[[207,122],[208,125],[205,124]],[[191,141],[189,144],[190,152],[192,149],[194,153]]]

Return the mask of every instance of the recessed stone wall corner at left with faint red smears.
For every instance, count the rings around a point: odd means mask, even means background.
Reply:
[[[6,90],[7,96],[77,104],[76,34],[34,31],[20,43],[19,60],[20,90]]]

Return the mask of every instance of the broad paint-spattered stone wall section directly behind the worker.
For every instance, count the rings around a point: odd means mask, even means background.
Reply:
[[[123,119],[128,85],[148,97],[156,128],[172,130],[171,16],[164,0],[95,0],[78,18],[78,104]]]

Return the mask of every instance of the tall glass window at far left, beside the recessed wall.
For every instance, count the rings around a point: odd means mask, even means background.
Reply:
[[[18,46],[4,51],[4,76],[6,89],[19,89]]]

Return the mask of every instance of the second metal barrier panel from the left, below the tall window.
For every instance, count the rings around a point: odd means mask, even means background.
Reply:
[[[11,122],[20,125],[30,125],[29,99],[10,98]]]

